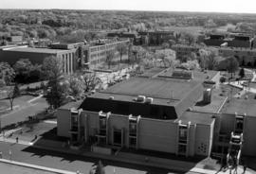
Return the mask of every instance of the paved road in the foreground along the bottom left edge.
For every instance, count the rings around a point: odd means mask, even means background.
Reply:
[[[96,165],[99,159],[87,158],[72,154],[64,154],[56,151],[27,147],[24,145],[0,142],[0,150],[3,158],[9,159],[9,149],[12,151],[12,160],[32,165],[43,165],[69,171],[81,171],[89,173],[92,165]],[[141,165],[130,165],[119,162],[102,160],[106,173],[115,174],[174,174],[174,172]]]

